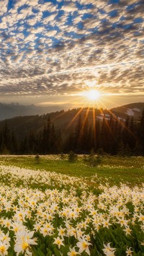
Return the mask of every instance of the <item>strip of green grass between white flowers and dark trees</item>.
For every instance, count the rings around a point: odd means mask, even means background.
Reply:
[[[14,165],[27,169],[45,169],[49,172],[75,177],[91,178],[97,175],[103,182],[110,185],[119,185],[120,182],[128,182],[129,185],[140,185],[144,182],[144,157],[118,157],[104,156],[102,163],[97,167],[89,167],[81,156],[77,162],[68,162],[60,159],[60,156],[40,156],[40,163],[35,161],[35,156],[0,156],[1,164]]]

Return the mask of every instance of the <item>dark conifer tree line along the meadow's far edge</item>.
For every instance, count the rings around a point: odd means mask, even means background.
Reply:
[[[79,115],[73,131],[65,136],[63,133],[48,118],[41,131],[30,131],[19,140],[5,121],[0,131],[0,154],[89,154],[93,149],[112,155],[143,156],[144,110],[138,121],[129,116],[125,121],[114,116],[107,119],[104,115],[103,120],[96,118],[92,125]]]

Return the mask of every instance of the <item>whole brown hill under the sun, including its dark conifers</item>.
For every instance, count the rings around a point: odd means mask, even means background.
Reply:
[[[0,122],[0,154],[144,152],[144,103],[19,116]]]

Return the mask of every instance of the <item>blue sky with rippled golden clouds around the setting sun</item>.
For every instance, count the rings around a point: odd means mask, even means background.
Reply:
[[[0,102],[144,102],[143,0],[0,0]]]

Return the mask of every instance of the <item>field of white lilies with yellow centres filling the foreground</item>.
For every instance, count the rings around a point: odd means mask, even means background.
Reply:
[[[144,186],[6,165],[0,173],[0,255],[144,255]]]

